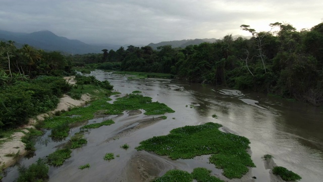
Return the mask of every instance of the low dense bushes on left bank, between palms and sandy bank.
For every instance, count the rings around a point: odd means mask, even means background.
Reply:
[[[56,108],[59,97],[70,89],[63,78],[53,76],[39,76],[4,87],[0,90],[0,129],[26,124],[29,117]]]

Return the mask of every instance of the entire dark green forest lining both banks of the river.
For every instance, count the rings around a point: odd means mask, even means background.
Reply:
[[[293,98],[312,105],[323,104],[323,23],[296,31],[290,24],[274,23],[278,31],[243,30],[252,38],[226,35],[214,43],[172,48],[163,45],[101,54],[64,56],[29,45],[0,42],[0,127],[26,123],[27,116],[55,108],[71,86],[60,76],[74,74],[73,66],[97,69],[171,73],[192,82],[252,89]],[[59,77],[57,77],[59,76]]]

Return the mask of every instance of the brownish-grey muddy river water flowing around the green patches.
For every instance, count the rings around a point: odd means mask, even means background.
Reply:
[[[177,127],[206,122],[220,123],[224,126],[223,130],[250,140],[251,157],[257,167],[236,181],[271,181],[269,169],[265,169],[261,158],[265,154],[273,155],[277,165],[301,175],[300,181],[323,181],[322,108],[178,80],[127,79],[127,75],[99,70],[91,75],[99,80],[109,80],[114,89],[122,94],[139,90],[144,96],[165,103],[176,112],[165,114],[168,117],[166,120],[159,120],[158,116],[145,116],[142,114],[144,111],[140,110],[90,120],[100,122],[112,118],[116,123],[85,133],[88,144],[73,150],[72,157],[61,167],[50,167],[49,181],[149,181],[170,169],[191,172],[195,167],[206,167],[213,174],[220,175],[220,169],[207,163],[208,156],[172,161],[165,156],[135,150],[139,142],[152,136],[168,134]],[[213,118],[213,114],[218,117]],[[70,135],[78,130],[79,127],[73,128]],[[48,137],[49,134],[50,131],[46,131],[37,140],[35,156],[21,159],[20,164],[30,165],[69,140],[55,142]],[[129,144],[130,148],[121,149],[123,144]],[[115,159],[104,161],[105,153],[114,153]],[[118,154],[120,157],[116,157]],[[86,163],[90,164],[90,168],[78,169]],[[17,176],[17,166],[10,167],[3,181],[14,181]],[[227,180],[223,176],[222,179]]]

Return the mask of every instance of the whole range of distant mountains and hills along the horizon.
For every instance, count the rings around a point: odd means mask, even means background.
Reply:
[[[232,36],[233,38],[240,35]],[[249,38],[249,37],[245,37]],[[68,39],[63,36],[58,36],[51,31],[37,31],[32,33],[10,32],[0,30],[0,41],[15,41],[17,48],[21,48],[23,44],[29,44],[34,48],[42,49],[44,51],[60,51],[65,54],[86,54],[86,53],[102,53],[101,50],[118,50],[121,46],[127,47],[128,45],[114,45],[114,44],[87,44],[80,40]],[[162,41],[159,43],[149,43],[148,46],[157,49],[159,46],[172,45],[173,48],[185,48],[187,45],[196,45],[203,42],[216,42],[216,38],[203,38],[203,39],[185,39]],[[140,45],[143,46],[143,45]]]

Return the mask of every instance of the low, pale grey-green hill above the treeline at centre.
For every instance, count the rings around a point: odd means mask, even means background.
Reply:
[[[172,45],[173,48],[186,48],[187,45],[197,45],[203,42],[216,42],[218,39],[216,38],[203,38],[203,39],[184,39],[184,40],[173,40],[173,41],[162,41],[159,43],[149,43],[148,46],[152,47],[153,49],[157,49],[159,46],[164,45]]]

